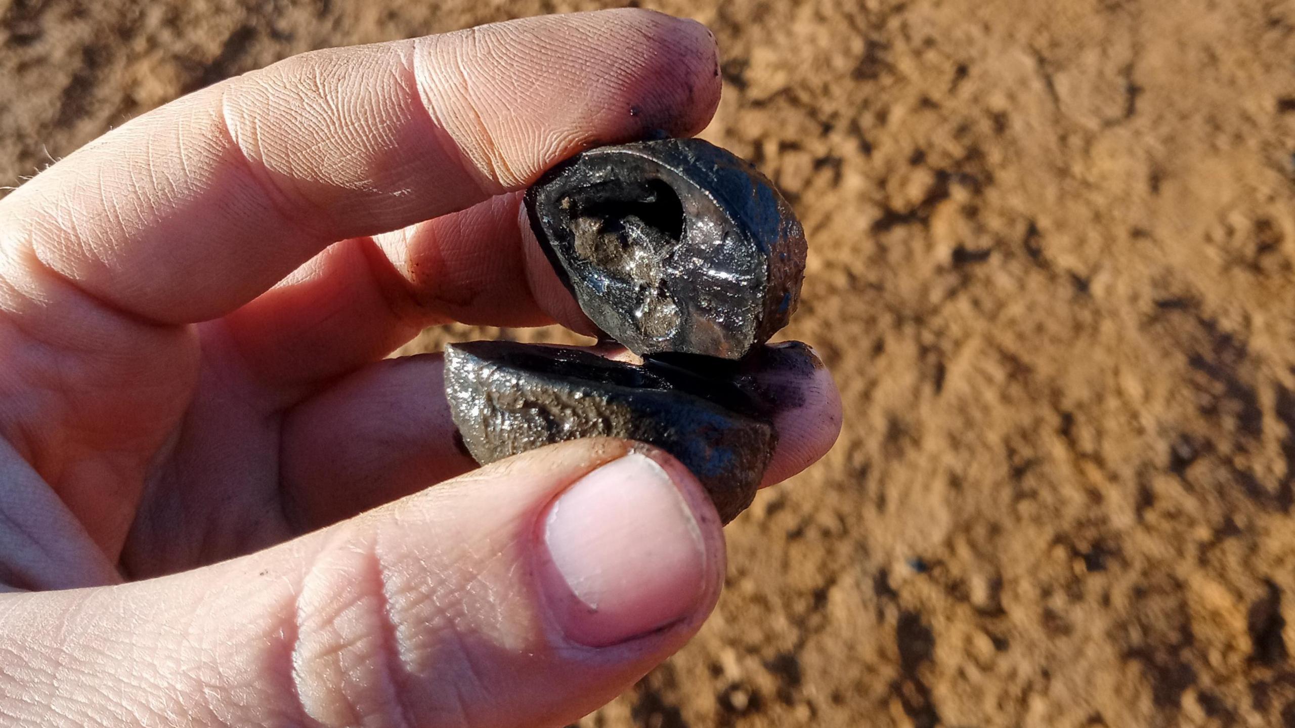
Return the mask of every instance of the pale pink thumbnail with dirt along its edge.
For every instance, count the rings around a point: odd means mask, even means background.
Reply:
[[[544,589],[571,641],[609,646],[697,609],[707,553],[670,474],[631,452],[576,481],[544,523],[552,569]]]

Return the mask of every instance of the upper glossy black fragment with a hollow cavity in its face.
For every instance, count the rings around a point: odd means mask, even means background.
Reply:
[[[750,163],[697,139],[580,153],[526,193],[580,308],[635,354],[741,359],[787,324],[805,238]]]

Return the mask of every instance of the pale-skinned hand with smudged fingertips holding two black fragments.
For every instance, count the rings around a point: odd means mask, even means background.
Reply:
[[[440,358],[383,358],[588,332],[515,192],[719,95],[697,23],[535,18],[290,58],[0,201],[0,722],[561,725],[680,649],[724,575],[685,469],[473,470]],[[767,484],[839,430],[826,370],[793,385]]]

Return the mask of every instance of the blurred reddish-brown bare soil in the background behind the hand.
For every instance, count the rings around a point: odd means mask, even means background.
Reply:
[[[0,184],[294,52],[593,5],[0,0]],[[657,6],[805,223],[847,424],[584,724],[1295,725],[1295,3]]]

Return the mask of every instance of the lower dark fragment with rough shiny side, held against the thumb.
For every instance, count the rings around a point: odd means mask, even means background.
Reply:
[[[645,442],[697,475],[725,523],[751,504],[774,443],[760,405],[732,382],[579,348],[449,345],[445,392],[478,462],[578,438]]]

